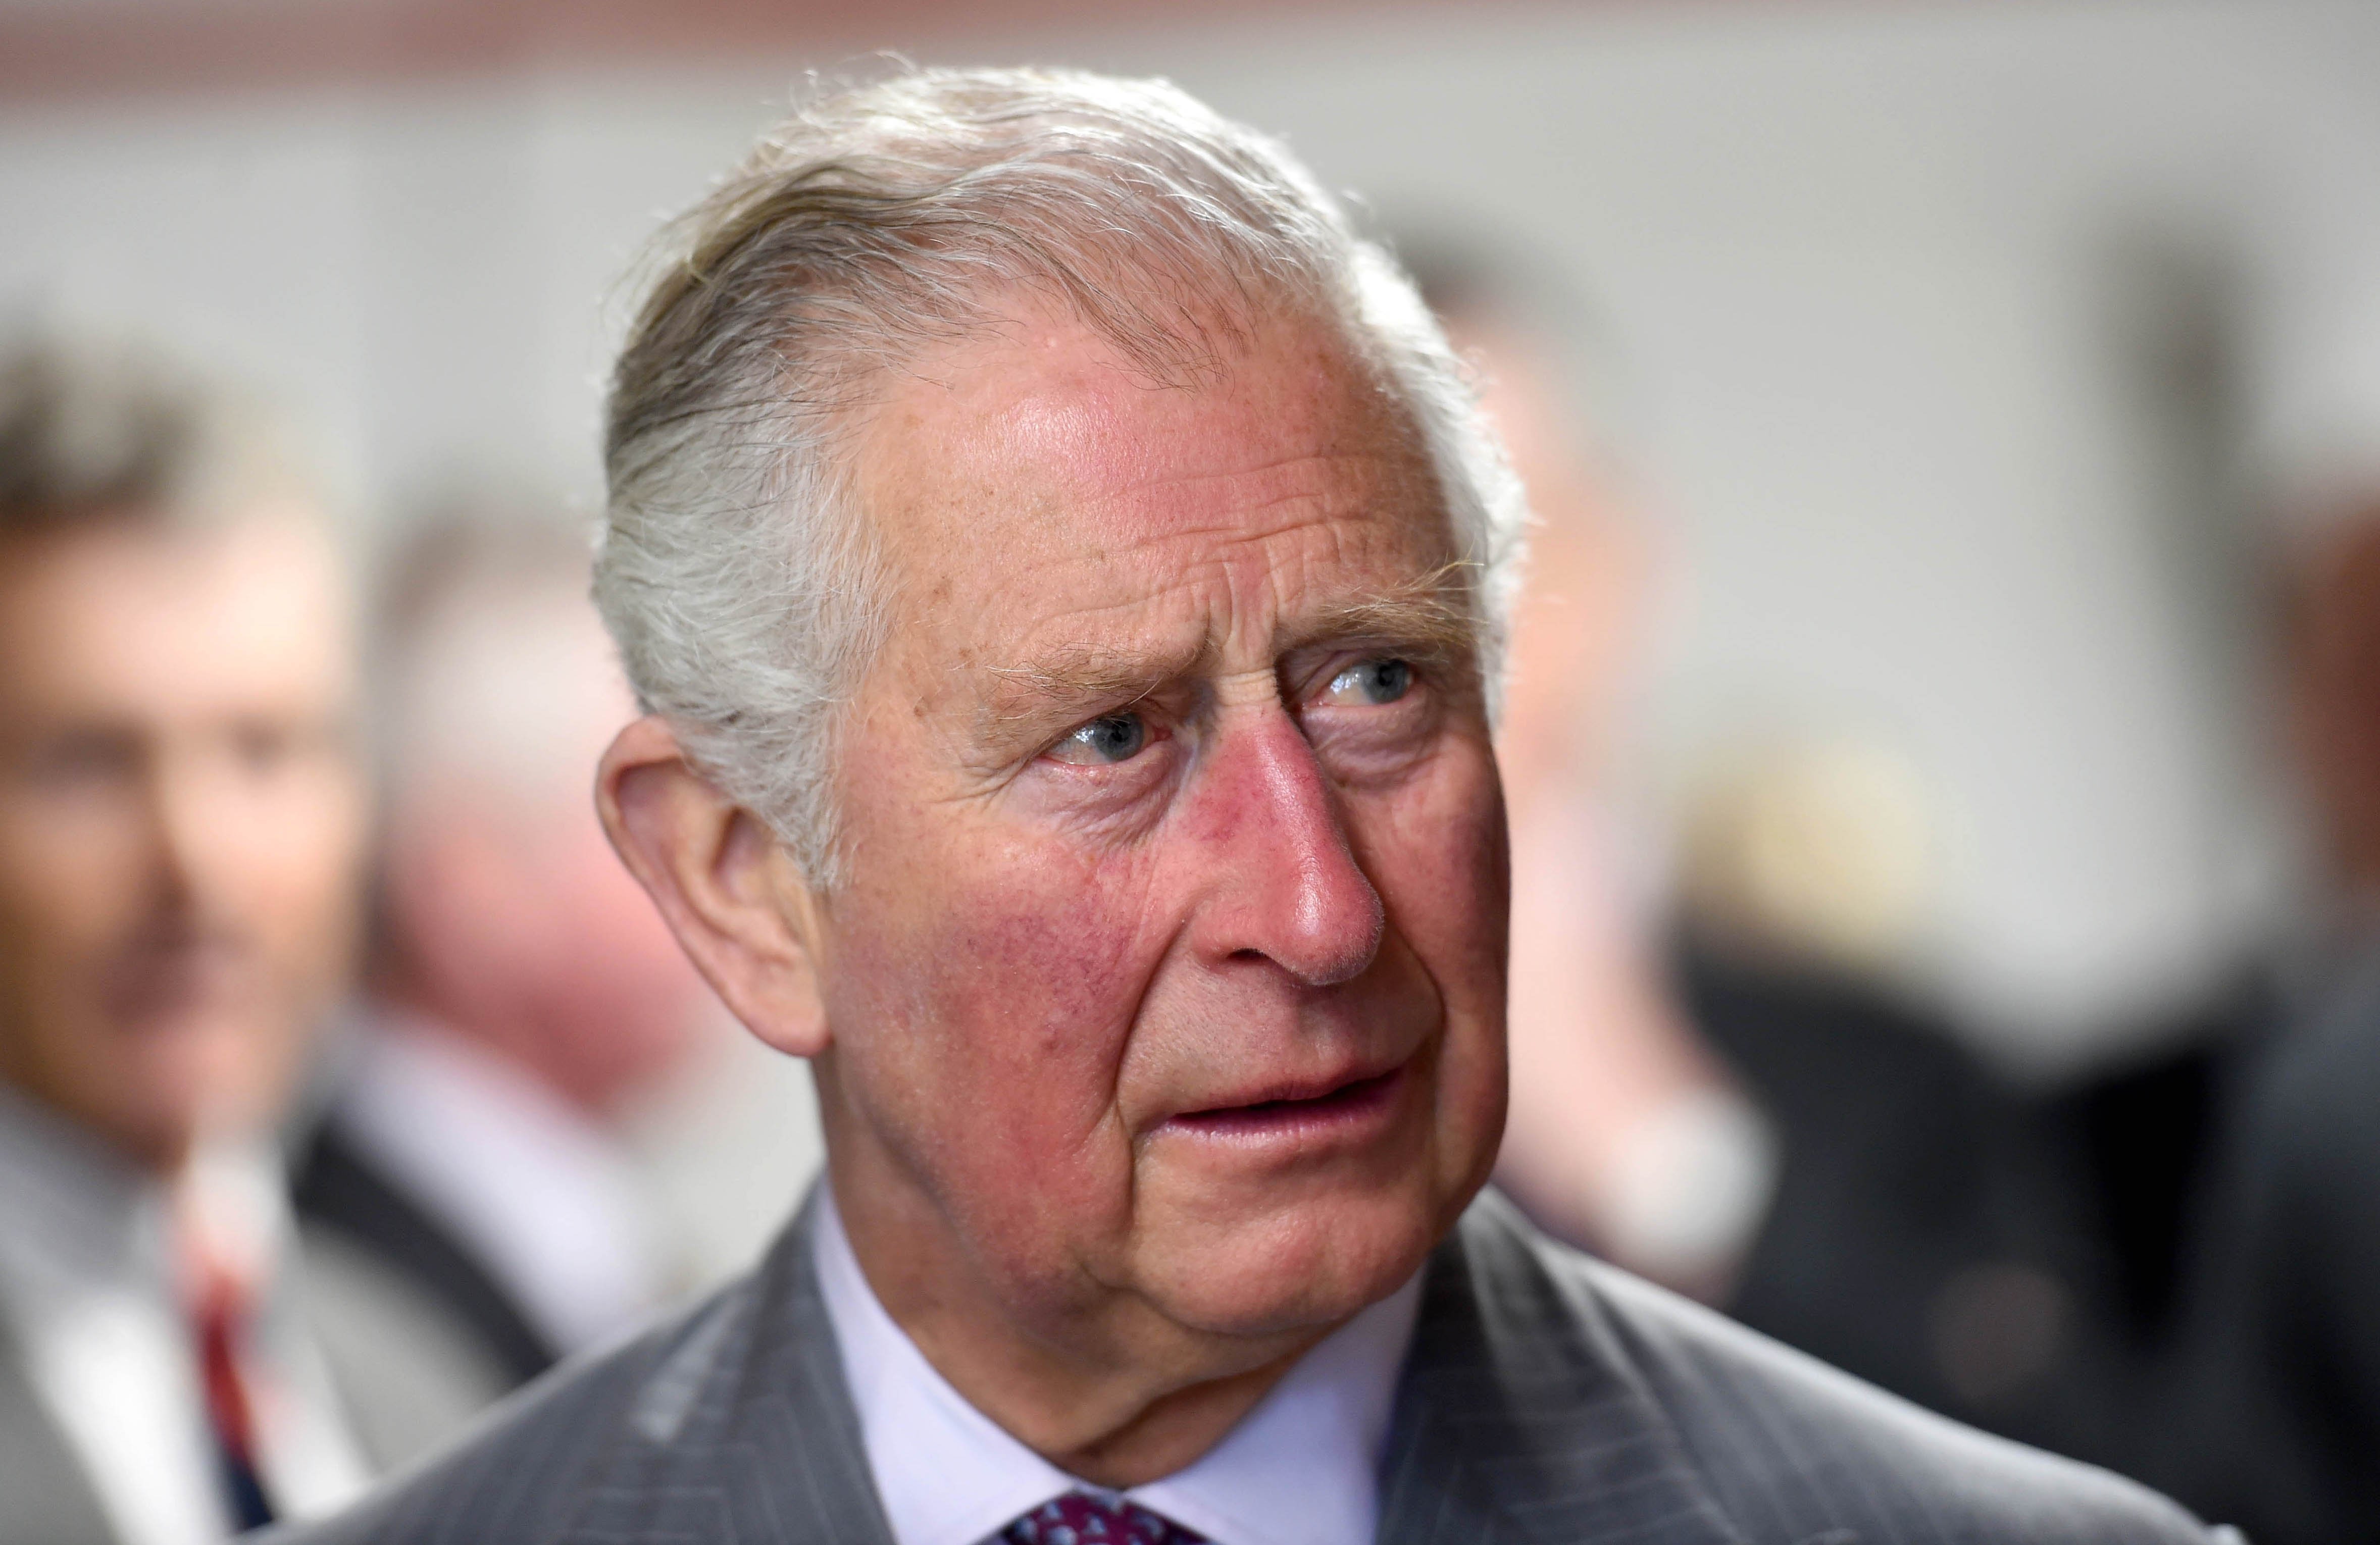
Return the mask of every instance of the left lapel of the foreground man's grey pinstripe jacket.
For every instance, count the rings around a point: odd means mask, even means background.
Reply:
[[[685,1326],[557,1540],[892,1545],[812,1269],[804,1202],[762,1269]]]

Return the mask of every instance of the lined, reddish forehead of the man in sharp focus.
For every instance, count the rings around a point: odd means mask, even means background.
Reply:
[[[1288,624],[1452,557],[1407,412],[1307,319],[1190,386],[1152,383],[1069,319],[1023,321],[895,379],[857,476],[904,636],[962,650],[1190,612]]]

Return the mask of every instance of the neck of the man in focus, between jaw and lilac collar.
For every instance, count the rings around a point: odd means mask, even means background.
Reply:
[[[828,1186],[871,1293],[969,1405],[1071,1476],[1123,1490],[1190,1466],[1335,1328],[1214,1336],[1123,1293],[1028,1324],[895,1164],[838,1143],[838,1126],[828,1116]]]

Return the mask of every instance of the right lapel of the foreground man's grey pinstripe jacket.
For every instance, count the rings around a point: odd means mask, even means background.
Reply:
[[[1483,1195],[1430,1259],[1380,1545],[1745,1545],[1580,1281]]]

